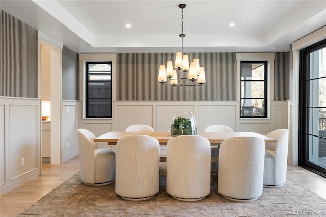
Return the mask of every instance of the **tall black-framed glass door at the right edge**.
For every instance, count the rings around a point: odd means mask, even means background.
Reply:
[[[299,164],[326,177],[326,40],[300,51]]]

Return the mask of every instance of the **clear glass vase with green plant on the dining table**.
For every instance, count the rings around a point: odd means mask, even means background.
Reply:
[[[174,114],[171,135],[196,135],[197,125],[195,117],[191,111],[181,111]]]

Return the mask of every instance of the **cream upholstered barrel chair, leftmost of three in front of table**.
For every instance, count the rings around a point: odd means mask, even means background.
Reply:
[[[159,191],[159,142],[148,135],[126,135],[116,147],[116,193],[146,200]]]

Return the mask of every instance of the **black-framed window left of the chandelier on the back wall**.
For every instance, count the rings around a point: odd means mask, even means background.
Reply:
[[[112,62],[86,62],[86,118],[111,118]]]

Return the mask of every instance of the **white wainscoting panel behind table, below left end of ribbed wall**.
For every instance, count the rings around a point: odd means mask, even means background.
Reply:
[[[133,124],[153,126],[152,105],[118,105],[116,107],[117,131],[124,131]]]

